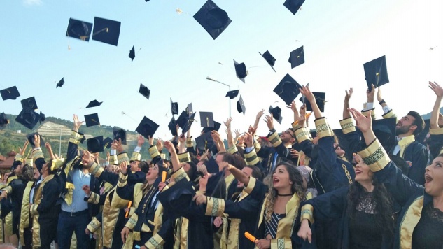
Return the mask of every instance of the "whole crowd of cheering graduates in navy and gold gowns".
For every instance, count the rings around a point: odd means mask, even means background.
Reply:
[[[155,142],[147,122],[134,152],[125,151],[124,132],[115,134],[104,166],[96,153],[102,141],[78,150],[83,121],[73,115],[63,158],[38,134],[16,155],[1,185],[3,242],[62,249],[441,248],[443,89],[429,87],[437,98],[426,141],[415,139],[425,128],[421,115],[400,118],[374,86],[362,111],[349,106],[353,91],[346,91],[340,130],[323,115],[324,101],[301,87],[304,104],[293,101],[294,122],[281,133],[272,112],[264,118],[269,134],[255,134],[264,111],[253,125],[242,122],[246,132],[235,138],[228,118],[227,148],[213,120],[195,142],[193,115],[170,141]],[[315,132],[307,128],[312,116]]]

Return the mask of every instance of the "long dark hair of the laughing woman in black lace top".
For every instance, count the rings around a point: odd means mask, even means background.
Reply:
[[[379,231],[383,231],[389,235],[393,234],[394,229],[394,220],[393,220],[393,203],[391,200],[391,194],[389,194],[388,190],[383,183],[379,183],[377,178],[372,179],[372,185],[374,186],[374,190],[372,194],[374,194],[375,201],[375,215],[377,216],[376,223],[377,229]],[[348,207],[347,212],[349,213],[349,218],[353,219],[356,211],[356,207],[360,202],[360,197],[365,191],[364,187],[360,185],[360,183],[353,183],[349,186],[348,192]]]

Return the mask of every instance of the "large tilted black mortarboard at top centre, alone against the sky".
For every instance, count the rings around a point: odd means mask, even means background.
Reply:
[[[211,0],[206,1],[204,6],[197,11],[194,19],[211,35],[215,40],[231,23],[225,10],[218,8]]]

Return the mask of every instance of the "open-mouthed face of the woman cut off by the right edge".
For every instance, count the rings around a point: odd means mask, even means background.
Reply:
[[[435,157],[433,163],[426,167],[425,191],[432,197],[443,195],[443,157]]]

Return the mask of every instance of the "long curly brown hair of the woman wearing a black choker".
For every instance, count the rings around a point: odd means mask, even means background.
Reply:
[[[303,200],[306,196],[306,187],[304,187],[303,185],[303,176],[300,173],[300,171],[297,170],[297,167],[294,166],[293,164],[289,164],[287,162],[281,162],[279,163],[279,165],[277,165],[275,167],[275,169],[277,169],[277,167],[279,166],[284,166],[286,168],[286,171],[288,171],[289,174],[289,180],[293,182],[293,185],[291,187],[291,192],[293,194],[297,194],[298,198],[301,200]],[[271,220],[271,215],[274,212],[274,205],[275,205],[275,200],[277,197],[277,194],[279,194],[279,192],[274,188],[274,184],[272,182],[272,180],[269,183],[269,192],[267,194],[265,203],[265,221],[269,222]]]

